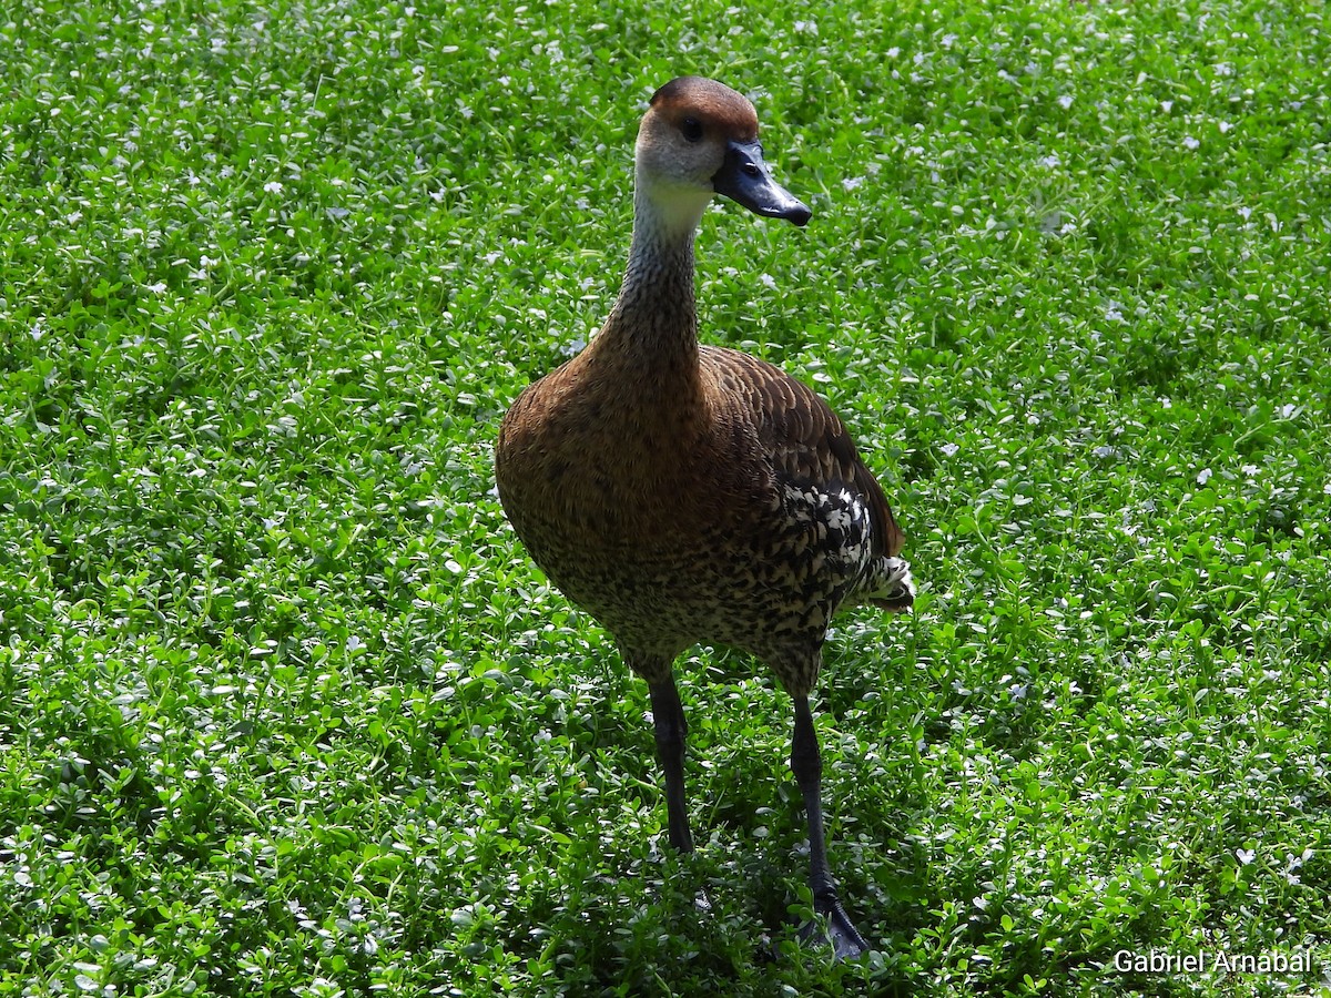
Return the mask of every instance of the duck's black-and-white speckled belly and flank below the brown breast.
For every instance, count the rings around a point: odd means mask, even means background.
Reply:
[[[681,516],[655,535],[543,523],[519,536],[627,653],[669,660],[723,644],[775,663],[821,645],[873,563],[870,530],[853,490],[785,480],[739,514]]]

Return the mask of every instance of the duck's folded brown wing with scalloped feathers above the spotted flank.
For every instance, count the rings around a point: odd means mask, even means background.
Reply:
[[[852,486],[869,508],[874,555],[901,551],[904,535],[882,486],[860,460],[855,440],[827,402],[780,367],[736,350],[703,346],[699,362],[723,395],[760,416],[753,423],[759,443],[779,471],[817,484]]]

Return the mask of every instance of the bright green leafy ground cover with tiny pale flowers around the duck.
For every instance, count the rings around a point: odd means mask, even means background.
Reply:
[[[1326,994],[1320,9],[662,9],[0,16],[0,994]],[[681,663],[672,856],[492,490],[681,72],[815,209],[708,216],[705,335],[831,399],[922,582],[820,691],[857,965],[789,927],[785,697]]]

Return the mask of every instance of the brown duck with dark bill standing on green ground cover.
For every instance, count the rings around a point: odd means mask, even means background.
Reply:
[[[586,347],[500,420],[499,500],[536,566],[647,683],[676,850],[693,836],[675,660],[724,645],[771,668],[793,703],[789,765],[808,821],[815,921],[800,935],[856,957],[869,947],[828,861],[809,697],[833,613],[910,609],[904,535],[827,402],[772,363],[699,341],[693,244],[713,198],[795,226],[812,218],[764,160],[753,104],[675,79],[647,105],[634,164],[619,294]]]

